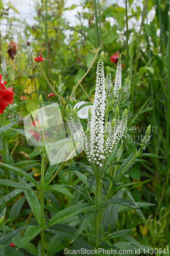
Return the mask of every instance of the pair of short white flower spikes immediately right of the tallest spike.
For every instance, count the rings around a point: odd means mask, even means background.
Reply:
[[[124,111],[122,120],[119,122],[119,111],[117,111],[118,108],[116,108],[115,118],[112,121],[111,124],[111,130],[109,133],[109,137],[106,141],[106,153],[111,153],[113,146],[116,145],[119,140],[124,136],[126,125],[127,125],[127,119],[128,119],[128,110],[126,109]]]

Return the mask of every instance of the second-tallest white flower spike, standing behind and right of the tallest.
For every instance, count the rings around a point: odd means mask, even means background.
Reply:
[[[118,90],[121,89],[122,86],[122,66],[121,66],[121,55],[118,58],[117,68],[116,68],[116,76],[114,81],[114,101],[116,102],[118,99]]]

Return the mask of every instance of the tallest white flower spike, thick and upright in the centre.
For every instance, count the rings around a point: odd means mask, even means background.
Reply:
[[[104,159],[104,116],[105,116],[105,74],[104,74],[104,52],[98,61],[95,81],[94,104],[91,110],[91,144],[92,158],[96,164],[102,166],[100,161]]]

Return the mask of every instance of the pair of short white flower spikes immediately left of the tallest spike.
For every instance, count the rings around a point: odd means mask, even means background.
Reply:
[[[72,116],[69,112],[68,106],[66,106],[65,109],[65,114],[67,117],[67,122],[68,122],[68,126],[70,129],[71,134],[73,135],[74,139],[77,139],[79,137],[84,136],[84,131],[80,122],[80,119],[78,117],[78,114],[76,112],[76,110],[73,110],[74,112],[74,120],[72,119]],[[81,139],[81,141],[83,140],[83,138]]]

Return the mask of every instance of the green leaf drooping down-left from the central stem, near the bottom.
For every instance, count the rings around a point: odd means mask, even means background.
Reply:
[[[98,210],[95,210],[95,211],[90,210],[83,215],[83,217],[80,221],[80,224],[79,224],[79,228],[78,228],[75,236],[72,238],[71,243],[75,241],[75,239],[79,236],[79,234],[84,231],[84,229],[88,226],[88,224],[91,221],[93,221],[95,216],[98,214],[99,214]]]

